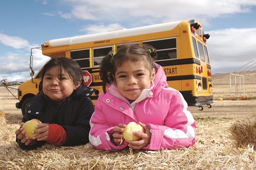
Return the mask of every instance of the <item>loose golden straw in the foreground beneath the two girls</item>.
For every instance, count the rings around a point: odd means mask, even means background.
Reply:
[[[2,118],[1,120],[4,121]],[[219,142],[218,133],[216,136],[201,135],[204,133],[201,128],[205,127],[200,125],[203,124],[199,122],[197,125],[198,139],[195,145],[182,149],[149,151],[126,148],[119,152],[108,152],[97,150],[91,144],[75,147],[54,147],[46,144],[38,150],[27,151],[20,149],[15,142],[7,141],[0,146],[0,170],[256,169],[256,153],[252,147],[236,148],[229,142]],[[1,126],[0,130],[6,132],[5,126]],[[14,133],[15,130],[7,131]]]

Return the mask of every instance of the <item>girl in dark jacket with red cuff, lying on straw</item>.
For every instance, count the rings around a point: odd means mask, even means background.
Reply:
[[[91,94],[95,91],[83,84],[80,66],[65,57],[50,59],[42,70],[42,90],[32,100],[23,116],[16,142],[23,149],[32,150],[46,142],[55,146],[74,146],[89,142],[90,118],[94,112]],[[32,139],[25,137],[22,126],[38,119]]]

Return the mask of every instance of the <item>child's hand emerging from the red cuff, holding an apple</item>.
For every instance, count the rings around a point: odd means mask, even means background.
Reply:
[[[32,139],[38,140],[38,141],[45,141],[49,134],[49,125],[45,123],[40,123],[36,125],[35,128],[37,128],[37,130],[32,131],[32,134],[35,134],[35,133],[40,133],[40,134],[32,137]]]

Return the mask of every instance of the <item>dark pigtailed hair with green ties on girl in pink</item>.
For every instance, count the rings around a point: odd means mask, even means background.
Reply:
[[[117,46],[116,54],[110,51],[100,63],[99,76],[102,79],[103,92],[107,92],[107,84],[115,81],[116,68],[122,66],[127,61],[145,63],[149,71],[154,68],[154,58],[157,56],[157,50],[148,44],[125,43]]]

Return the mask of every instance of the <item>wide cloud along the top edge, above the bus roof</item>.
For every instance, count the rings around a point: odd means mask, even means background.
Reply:
[[[72,9],[68,13],[61,12],[61,17],[129,23],[131,27],[192,19],[191,17],[207,23],[209,18],[245,13],[250,11],[250,6],[256,5],[255,0],[147,0],[146,3],[138,0],[71,0],[66,3],[70,3]]]

